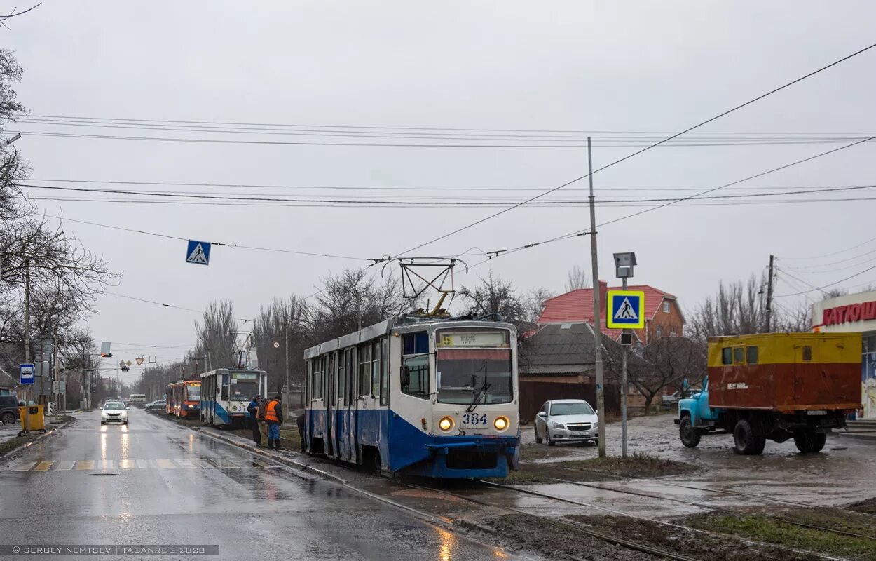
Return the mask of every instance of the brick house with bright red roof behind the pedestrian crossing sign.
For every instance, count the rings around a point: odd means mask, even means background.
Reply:
[[[620,337],[621,330],[610,330],[605,327],[606,295],[609,290],[621,289],[621,287],[609,287],[604,280],[599,281],[602,332],[615,341]],[[654,337],[682,335],[684,316],[675,295],[646,284],[631,285],[626,289],[641,290],[645,293],[645,328],[633,330],[642,344],[648,344]],[[552,323],[593,323],[593,319],[593,288],[578,288],[546,300],[538,323],[540,326]]]

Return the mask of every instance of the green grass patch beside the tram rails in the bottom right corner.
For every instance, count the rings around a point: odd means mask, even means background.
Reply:
[[[762,515],[703,516],[686,523],[696,528],[745,537],[759,542],[826,553],[860,561],[876,561],[876,541],[801,528]]]

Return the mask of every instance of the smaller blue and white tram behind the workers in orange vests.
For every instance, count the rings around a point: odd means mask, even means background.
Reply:
[[[201,422],[214,427],[244,426],[256,395],[267,395],[268,375],[261,370],[219,368],[201,374]]]

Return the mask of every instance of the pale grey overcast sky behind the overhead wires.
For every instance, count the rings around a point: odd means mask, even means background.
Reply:
[[[11,9],[11,3],[5,4]],[[600,167],[637,149],[606,147],[606,138],[612,135],[604,131],[622,131],[626,138],[632,131],[681,131],[876,42],[873,21],[876,4],[870,0],[46,0],[35,11],[11,20],[11,31],[0,32],[3,45],[14,49],[25,67],[18,96],[33,115],[338,125],[346,127],[343,130],[361,126],[463,128],[476,133],[484,129],[590,131],[596,146],[594,165]],[[849,136],[866,136],[876,131],[874,68],[876,49],[699,131],[855,132]],[[9,129],[259,142],[448,142],[26,122]],[[695,143],[703,135],[689,138]],[[485,144],[509,142],[503,138]],[[516,201],[586,174],[586,150],[580,143],[571,144],[576,146],[300,146],[46,137],[25,132],[16,147],[31,161],[32,184],[39,185],[269,197]],[[597,198],[604,200],[686,196],[696,191],[667,189],[715,188],[837,146],[842,145],[661,147],[596,174],[594,182]],[[870,169],[874,150],[876,146],[869,144],[855,146],[738,186],[748,190],[716,194],[876,183]],[[419,190],[173,187],[50,180]],[[582,189],[586,187],[586,181],[579,181],[546,198],[584,201]],[[513,190],[466,193],[446,188]],[[526,188],[538,190],[520,190]],[[868,194],[872,190],[796,198],[865,198]],[[32,195],[114,198],[44,189],[34,189]],[[62,212],[68,218],[99,224],[360,258],[397,255],[498,210],[38,202],[49,215]],[[643,208],[604,206],[597,209],[597,220],[606,222]],[[774,253],[780,257],[780,268],[788,267],[788,273],[822,286],[860,272],[871,258],[845,260],[837,266],[823,264],[868,252],[873,244],[835,258],[787,258],[820,256],[867,241],[873,236],[873,208],[871,201],[844,201],[659,209],[599,231],[600,276],[612,280],[612,252],[635,251],[639,266],[634,282],[671,292],[679,297],[682,308],[691,309],[714,292],[720,280],[761,273],[769,254]],[[513,209],[416,254],[451,255],[472,246],[486,251],[516,247],[583,230],[588,224],[588,211],[581,206]],[[64,228],[124,273],[120,285],[109,292],[190,309],[228,298],[241,318],[255,316],[272,296],[312,294],[322,275],[362,265],[356,260],[216,246],[209,266],[195,266],[184,262],[185,241],[73,222]],[[464,259],[470,264],[481,260],[477,255]],[[492,266],[521,290],[544,287],[559,292],[567,271],[576,265],[590,268],[588,238],[516,252],[477,266],[468,276],[457,271],[456,280],[474,283],[477,275],[488,273]],[[846,268],[838,270],[842,267]],[[857,287],[873,280],[876,271],[839,286]],[[803,288],[808,287],[779,273],[778,294]],[[783,303],[798,302],[803,302],[800,297]],[[195,313],[116,295],[103,295],[97,305],[99,314],[88,320],[88,327],[98,341],[114,342],[117,357],[133,360],[142,353],[159,360],[176,359],[194,344]],[[144,345],[165,348],[146,350]],[[126,380],[135,379],[138,372],[133,368]]]

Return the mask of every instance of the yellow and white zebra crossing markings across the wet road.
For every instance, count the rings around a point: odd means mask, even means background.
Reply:
[[[159,458],[159,459],[80,459],[40,460],[9,465],[11,472],[105,472],[108,470],[171,470],[171,469],[240,469],[242,467],[272,468],[260,459],[225,458]]]

